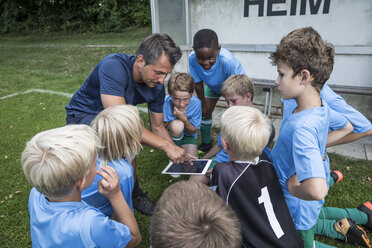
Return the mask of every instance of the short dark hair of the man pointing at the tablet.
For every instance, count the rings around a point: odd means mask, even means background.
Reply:
[[[181,48],[176,46],[167,34],[152,34],[138,47],[136,57],[142,55],[146,65],[153,65],[165,53],[169,63],[174,66],[182,56]]]

